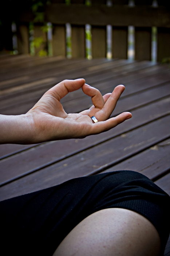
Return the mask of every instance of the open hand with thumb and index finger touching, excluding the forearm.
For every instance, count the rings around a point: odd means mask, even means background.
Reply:
[[[67,114],[60,99],[81,87],[83,92],[91,97],[93,106],[78,114]],[[31,143],[84,138],[88,135],[108,131],[131,118],[131,113],[124,112],[108,119],[124,89],[123,85],[119,85],[112,93],[102,97],[99,90],[85,84],[84,79],[64,80],[56,84],[26,114],[33,121]],[[92,116],[97,118],[98,123],[92,121]]]

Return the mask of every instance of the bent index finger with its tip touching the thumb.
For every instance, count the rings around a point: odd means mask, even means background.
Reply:
[[[96,109],[102,109],[104,106],[104,99],[100,91],[88,84],[83,84],[82,91],[84,94],[91,97],[92,103]]]

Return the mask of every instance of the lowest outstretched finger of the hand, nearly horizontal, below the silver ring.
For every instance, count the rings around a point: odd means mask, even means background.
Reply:
[[[131,117],[132,117],[132,114],[130,112],[123,112],[123,113],[119,114],[118,116],[112,117],[106,121],[93,123],[91,125],[90,132],[92,134],[98,134],[100,132],[108,131],[108,130],[114,128],[115,126],[117,126],[118,124],[123,123],[125,120],[127,120]]]

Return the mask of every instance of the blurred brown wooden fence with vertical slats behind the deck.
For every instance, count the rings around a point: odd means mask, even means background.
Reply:
[[[92,58],[161,61],[170,57],[170,10],[167,7],[154,7],[151,4],[155,1],[148,1],[151,2],[150,5],[112,6],[100,4],[106,2],[102,0],[97,1],[98,4],[93,4],[92,1],[91,6],[82,2],[84,1],[76,1],[77,4],[74,4],[74,1],[71,1],[70,5],[51,3],[44,8],[45,20],[52,24],[52,35],[49,38],[49,33],[47,36],[40,28],[43,24],[35,23],[34,37],[43,37],[48,52],[50,45],[49,55],[88,57],[86,25],[89,24]],[[33,21],[33,18],[32,13],[27,12],[21,14],[16,22],[19,53],[30,52],[29,22]],[[70,55],[66,47],[68,24],[71,25]],[[108,25],[111,27],[110,36]],[[36,49],[35,54],[38,51],[39,49]]]

